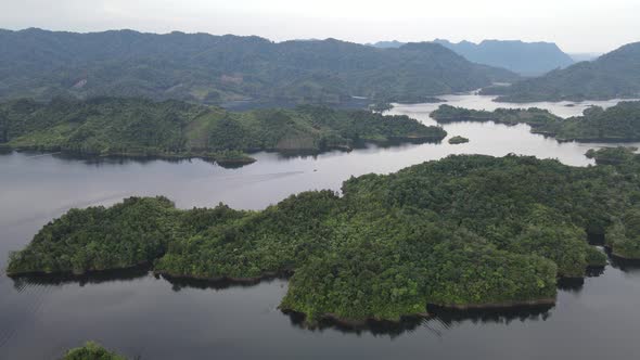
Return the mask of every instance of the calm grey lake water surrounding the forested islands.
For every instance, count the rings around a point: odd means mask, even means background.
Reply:
[[[451,104],[491,108],[490,98],[447,97]],[[612,105],[613,103],[609,103]],[[501,104],[503,105],[503,104]],[[543,103],[562,116],[581,112]],[[606,105],[606,104],[604,104]],[[437,105],[392,112],[430,123]],[[10,250],[69,207],[113,204],[130,195],[164,194],[180,207],[225,202],[264,208],[312,189],[340,190],[349,176],[391,172],[448,154],[528,154],[586,166],[598,144],[559,144],[528,127],[447,125],[462,145],[369,147],[316,157],[256,154],[257,163],[223,169],[201,160],[85,162],[51,155],[0,156],[0,268]],[[0,359],[52,359],[97,339],[142,359],[637,359],[640,352],[640,270],[611,265],[584,284],[565,286],[558,304],[536,310],[438,313],[396,326],[308,330],[277,306],[286,281],[254,286],[193,286],[144,270],[88,281],[16,281],[0,275]]]

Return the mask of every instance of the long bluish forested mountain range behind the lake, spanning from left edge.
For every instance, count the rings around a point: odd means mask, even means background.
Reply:
[[[327,40],[117,30],[0,30],[0,99],[145,97],[340,103],[477,89],[514,74],[433,43],[375,49]]]

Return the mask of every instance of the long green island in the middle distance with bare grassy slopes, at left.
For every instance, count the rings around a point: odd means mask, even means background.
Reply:
[[[244,113],[169,100],[97,98],[15,100],[0,104],[0,146],[128,157],[201,157],[220,165],[254,162],[247,152],[350,150],[366,142],[440,141],[446,131],[407,116],[295,110]]]

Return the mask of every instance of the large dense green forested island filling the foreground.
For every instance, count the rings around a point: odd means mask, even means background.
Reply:
[[[640,156],[571,167],[452,155],[309,191],[264,210],[178,209],[165,197],[72,209],[10,255],[11,277],[148,263],[169,279],[256,281],[293,273],[283,311],[399,320],[427,305],[552,304],[558,278],[605,255],[638,258]]]

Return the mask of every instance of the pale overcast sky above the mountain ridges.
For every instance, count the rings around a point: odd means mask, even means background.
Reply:
[[[329,37],[553,41],[606,52],[640,41],[640,0],[0,0],[0,28]]]

